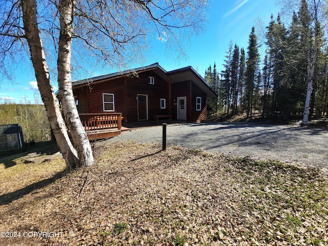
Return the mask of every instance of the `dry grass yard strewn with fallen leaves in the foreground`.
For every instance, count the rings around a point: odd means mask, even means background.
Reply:
[[[135,142],[98,147],[97,165],[52,179],[63,161],[5,169],[0,232],[20,237],[0,245],[328,243],[326,170],[159,150]],[[35,231],[62,237],[23,237]]]

